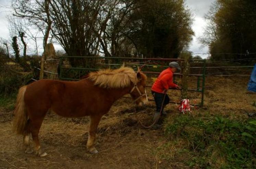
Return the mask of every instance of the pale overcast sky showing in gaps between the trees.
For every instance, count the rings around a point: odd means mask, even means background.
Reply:
[[[10,5],[11,0],[0,0],[0,37],[8,40],[9,38],[9,30],[8,30],[8,21],[7,15],[11,14],[11,11],[5,9],[3,6]],[[203,35],[203,29],[206,26],[206,22],[204,20],[204,14],[209,11],[210,5],[215,0],[185,0],[185,4],[191,9],[191,12],[194,17],[194,22],[192,29],[195,32],[195,36],[193,37],[193,41],[188,50],[193,53],[207,53],[208,48],[201,48],[201,44],[197,41],[199,36]],[[33,42],[28,43],[28,47],[32,46]],[[61,49],[59,45],[54,45],[55,49]],[[30,47],[32,49],[33,47]],[[42,50],[42,49],[41,49]],[[200,55],[203,58],[206,58],[208,55]]]

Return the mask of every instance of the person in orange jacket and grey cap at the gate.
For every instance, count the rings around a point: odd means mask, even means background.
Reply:
[[[167,90],[169,88],[181,89],[177,84],[173,83],[173,73],[175,73],[177,70],[181,70],[179,64],[177,62],[170,62],[169,67],[160,73],[151,87],[151,92],[156,103],[156,112],[154,114],[153,121],[157,122],[159,120],[161,113],[163,113],[164,107],[170,102],[170,98],[166,93]]]

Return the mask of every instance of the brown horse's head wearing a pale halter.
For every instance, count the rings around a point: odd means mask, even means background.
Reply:
[[[148,102],[146,93],[147,76],[144,73],[138,71],[137,79],[138,82],[134,84],[133,88],[130,91],[130,95],[132,96],[135,104],[138,107],[142,107]]]

